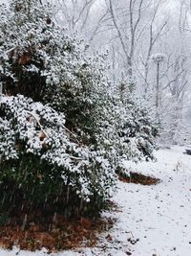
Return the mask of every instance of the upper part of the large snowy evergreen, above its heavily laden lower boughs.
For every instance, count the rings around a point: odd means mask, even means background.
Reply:
[[[4,92],[20,93],[64,111],[66,126],[85,141],[96,91],[104,86],[100,56],[86,57],[80,41],[53,22],[50,7],[39,1],[12,0],[2,8],[0,72]]]

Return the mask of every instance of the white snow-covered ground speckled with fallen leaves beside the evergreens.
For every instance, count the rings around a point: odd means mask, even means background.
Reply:
[[[127,163],[142,174],[159,177],[161,182],[156,186],[119,182],[120,189],[114,198],[118,211],[105,214],[117,218],[117,223],[101,235],[99,245],[51,255],[191,256],[191,156],[182,151],[184,148],[180,147],[157,151],[157,163]],[[13,255],[47,253],[19,252],[17,248],[0,250],[0,256]]]

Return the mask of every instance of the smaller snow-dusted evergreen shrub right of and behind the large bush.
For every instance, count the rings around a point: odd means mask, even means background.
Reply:
[[[122,95],[120,88],[115,89],[107,105],[100,106],[102,114],[96,118],[98,148],[117,170],[122,169],[123,160],[154,160],[159,135],[159,126],[152,120],[150,109],[124,85],[127,89]]]

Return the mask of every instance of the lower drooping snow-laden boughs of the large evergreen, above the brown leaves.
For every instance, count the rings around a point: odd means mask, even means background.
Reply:
[[[3,97],[0,116],[1,181],[36,202],[66,188],[87,202],[108,198],[115,184],[109,161],[80,145],[63,113],[17,95]]]

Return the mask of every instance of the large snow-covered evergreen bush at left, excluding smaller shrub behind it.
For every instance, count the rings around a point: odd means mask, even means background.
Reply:
[[[71,200],[105,201],[116,175],[93,134],[107,81],[101,57],[84,57],[37,0],[12,0],[0,13],[0,181],[35,202],[53,195],[68,202],[68,190]]]

